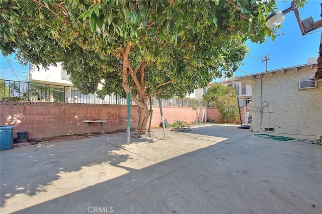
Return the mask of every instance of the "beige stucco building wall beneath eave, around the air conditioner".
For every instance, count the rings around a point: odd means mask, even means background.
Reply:
[[[275,134],[316,139],[322,134],[322,82],[317,88],[298,89],[298,82],[312,79],[316,64],[267,72],[253,79],[253,130],[273,128]],[[260,114],[261,103],[263,114]]]

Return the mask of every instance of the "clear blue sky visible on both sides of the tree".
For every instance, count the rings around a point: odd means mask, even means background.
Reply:
[[[315,22],[320,20],[321,2],[320,0],[307,0],[304,8],[299,9],[302,20],[308,17],[313,17]],[[281,11],[289,8],[290,5],[291,0],[277,1],[277,6]],[[262,44],[247,43],[251,51],[245,57],[244,65],[239,66],[235,75],[245,76],[247,74],[264,72],[265,62],[261,61],[264,55],[270,55],[271,58],[267,61],[268,71],[306,64],[308,58],[318,56],[321,32],[322,28],[319,28],[313,31],[313,33],[302,36],[294,13],[291,11],[285,15],[282,27],[278,30],[280,36],[275,41],[268,38],[268,41]],[[10,67],[7,59],[11,62],[13,69]],[[8,56],[7,59],[0,53],[0,78],[26,80],[26,72],[29,70],[29,67],[20,65],[13,56]]]

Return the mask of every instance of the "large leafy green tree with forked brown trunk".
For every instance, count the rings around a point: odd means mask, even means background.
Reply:
[[[301,0],[303,1],[303,0]],[[0,48],[35,64],[63,62],[85,93],[117,93],[138,105],[138,132],[149,97],[183,97],[231,76],[264,42],[269,0],[0,0]],[[98,84],[103,84],[98,89]]]

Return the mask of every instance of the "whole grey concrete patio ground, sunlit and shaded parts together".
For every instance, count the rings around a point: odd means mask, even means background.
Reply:
[[[1,151],[1,213],[322,213],[322,146],[237,125]]]

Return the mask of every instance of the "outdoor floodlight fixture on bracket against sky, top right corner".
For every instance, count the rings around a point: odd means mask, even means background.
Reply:
[[[294,11],[294,15],[296,17],[298,26],[300,27],[303,36],[310,31],[322,27],[322,20],[314,22],[313,18],[309,17],[302,21],[300,17],[300,12],[294,0],[292,0],[291,7],[289,7],[288,9],[284,11],[276,11],[273,14],[271,14],[266,20],[266,26],[268,28],[276,28],[276,26],[280,25],[284,21],[284,15],[291,11]]]

